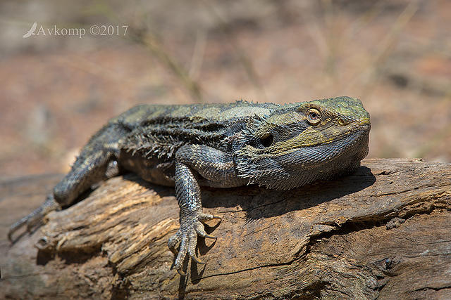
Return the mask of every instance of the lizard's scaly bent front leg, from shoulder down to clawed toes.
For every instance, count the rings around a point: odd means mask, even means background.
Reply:
[[[193,171],[218,187],[242,185],[244,179],[236,176],[233,157],[209,146],[184,145],[175,154],[175,160],[175,196],[180,207],[180,229],[168,240],[168,247],[175,252],[175,246],[180,242],[173,268],[185,275],[182,267],[186,254],[193,261],[202,263],[196,256],[197,235],[216,239],[206,234],[204,221],[221,219],[202,212],[199,178]]]

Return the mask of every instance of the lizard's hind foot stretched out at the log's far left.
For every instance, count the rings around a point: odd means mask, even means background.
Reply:
[[[40,207],[32,211],[31,214],[24,216],[22,219],[11,225],[8,231],[8,240],[12,242],[13,233],[16,233],[16,231],[23,226],[27,226],[27,232],[31,233],[33,228],[42,223],[44,216],[49,214],[50,211],[54,211],[60,208],[61,207],[59,206],[59,204],[55,202],[53,195],[49,195]]]

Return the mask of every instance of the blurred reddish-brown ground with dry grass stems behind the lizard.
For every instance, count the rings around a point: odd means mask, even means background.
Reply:
[[[3,178],[68,171],[138,103],[240,98],[361,98],[369,157],[451,162],[451,1],[11,0],[0,25]]]

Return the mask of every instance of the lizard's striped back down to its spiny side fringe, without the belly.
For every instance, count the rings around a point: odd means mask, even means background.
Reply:
[[[139,105],[111,119],[128,133],[121,140],[122,150],[147,158],[170,160],[186,143],[210,145],[218,150],[221,143],[245,126],[251,117],[264,117],[280,107],[273,103],[237,101],[224,104]]]

